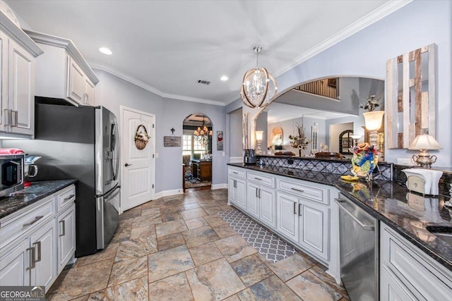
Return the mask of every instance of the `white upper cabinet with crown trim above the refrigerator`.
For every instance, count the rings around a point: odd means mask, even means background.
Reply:
[[[44,50],[36,63],[36,96],[66,99],[79,106],[95,105],[97,79],[70,39],[26,30]]]

